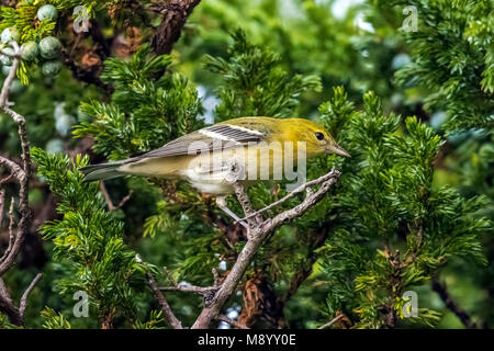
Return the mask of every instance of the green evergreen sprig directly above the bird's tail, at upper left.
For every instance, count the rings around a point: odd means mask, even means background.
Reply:
[[[90,101],[81,111],[92,118],[74,135],[94,137],[94,150],[112,160],[148,151],[201,126],[201,100],[183,76],[170,71],[169,56],[148,45],[130,60],[108,59],[101,79],[112,84],[111,103]]]

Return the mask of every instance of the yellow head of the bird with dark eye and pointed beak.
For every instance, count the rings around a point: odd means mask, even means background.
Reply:
[[[296,124],[292,123],[293,127],[288,131],[290,139],[293,141],[305,141],[308,157],[325,152],[350,157],[350,154],[340,147],[321,125],[304,118],[293,120],[296,120]]]

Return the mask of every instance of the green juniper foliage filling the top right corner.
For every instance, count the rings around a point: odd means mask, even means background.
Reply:
[[[494,127],[494,5],[492,1],[375,1],[417,9],[417,31],[403,32],[412,63],[401,84],[428,89],[426,109],[446,111],[446,131]],[[385,10],[384,10],[385,11]],[[397,12],[397,11],[396,11]],[[396,16],[400,18],[400,16]]]

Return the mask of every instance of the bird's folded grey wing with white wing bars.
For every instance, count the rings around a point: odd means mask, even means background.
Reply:
[[[197,155],[200,151],[235,148],[249,143],[258,143],[262,138],[263,134],[255,129],[217,124],[175,139],[158,149],[136,157],[136,160],[154,157]]]

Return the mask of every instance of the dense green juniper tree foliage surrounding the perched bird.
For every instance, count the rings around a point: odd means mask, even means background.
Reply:
[[[473,272],[484,280],[475,288],[492,292],[480,241],[489,240],[486,218],[493,219],[492,3],[369,2],[375,31],[363,32],[352,23],[356,9],[335,19],[324,1],[294,3],[296,16],[281,15],[283,7],[273,1],[207,1],[184,27],[179,23],[181,42],[168,56],[156,53],[171,48],[162,45],[171,24],[159,3],[135,1],[127,9],[126,1],[49,2],[57,14],[43,14],[41,22],[35,16],[44,2],[21,1],[0,14],[0,32],[15,27],[21,45],[33,47],[50,36],[60,41],[59,56],[31,53],[21,61],[18,79],[29,86],[19,84],[16,92],[13,87],[11,100],[26,116],[32,145],[71,155],[33,149],[40,180],[49,190],[33,182],[31,205],[55,196],[58,214],[40,227],[50,262],[36,287],[43,294],[31,294],[27,326],[169,327],[156,284],[173,290],[166,299],[179,324],[191,326],[206,298],[180,288],[194,290],[191,283],[215,287],[228,274],[247,238],[211,196],[186,182],[134,177],[99,189],[82,183],[77,170],[88,158],[72,158],[92,146],[92,161],[123,159],[203,126],[209,112],[195,82],[217,99],[215,122],[245,115],[315,117],[352,155],[345,161],[321,157],[310,162],[308,179],[335,167],[341,171],[338,182],[263,244],[239,295],[232,294],[222,313],[238,310],[238,321],[250,327],[378,328],[414,321],[424,327],[437,326],[441,317],[440,307],[430,303],[430,281],[451,275],[451,268],[454,276]],[[87,34],[64,30],[74,25],[71,10],[79,4],[89,9]],[[402,39],[396,35],[402,9],[409,4],[418,9],[419,31],[401,33]],[[190,15],[189,10],[183,13]],[[229,37],[225,29],[240,20],[248,34],[233,31]],[[124,54],[117,48],[122,36],[128,44]],[[146,42],[150,45],[139,45]],[[48,48],[56,52],[57,45]],[[405,53],[412,63],[395,65],[396,55]],[[63,69],[52,77],[54,60],[71,72]],[[43,68],[46,63],[53,67]],[[346,90],[332,93],[336,84]],[[50,89],[40,98],[42,87]],[[368,89],[377,93],[362,95]],[[419,106],[395,103],[397,94]],[[445,124],[437,123],[440,111],[447,114]],[[68,133],[75,124],[76,140]],[[2,115],[2,148],[10,155],[19,148],[15,131]],[[46,144],[54,138],[56,147]],[[445,174],[452,177],[445,181]],[[451,179],[456,188],[445,185]],[[247,194],[255,208],[262,208],[287,195],[283,185],[258,184]],[[13,186],[7,190],[15,195]],[[301,202],[302,195],[293,196],[263,216],[272,218]],[[228,207],[243,213],[235,196]],[[25,288],[24,275],[11,270],[7,286]],[[72,317],[78,291],[89,295],[90,318]],[[417,318],[404,318],[406,291],[418,292]],[[489,320],[486,307],[479,315]],[[7,319],[1,317],[0,325],[13,327]]]

